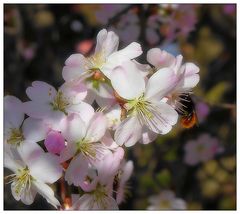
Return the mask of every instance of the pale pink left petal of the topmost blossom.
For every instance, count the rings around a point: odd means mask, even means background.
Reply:
[[[86,58],[82,54],[72,54],[66,61],[62,70],[63,79],[66,82],[76,80],[81,77],[85,68]]]

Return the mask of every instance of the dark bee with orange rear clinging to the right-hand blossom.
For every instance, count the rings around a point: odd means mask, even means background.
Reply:
[[[176,109],[181,116],[180,123],[184,128],[192,128],[198,124],[197,114],[194,102],[190,94],[181,94],[179,96],[180,109]]]

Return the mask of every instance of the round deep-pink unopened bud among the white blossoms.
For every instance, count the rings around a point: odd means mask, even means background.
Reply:
[[[50,153],[59,154],[65,147],[65,141],[59,132],[50,131],[44,141],[44,145]]]

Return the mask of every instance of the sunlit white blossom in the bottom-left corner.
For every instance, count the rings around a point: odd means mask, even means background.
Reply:
[[[13,197],[30,205],[39,193],[55,208],[60,206],[53,190],[47,185],[56,182],[62,175],[58,158],[45,153],[37,144],[22,144],[18,151],[19,155],[5,146],[4,167],[14,172],[5,179],[11,183]]]

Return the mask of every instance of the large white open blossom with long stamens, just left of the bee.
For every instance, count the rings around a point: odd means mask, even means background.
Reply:
[[[145,83],[137,66],[126,62],[114,69],[110,79],[113,88],[125,100],[124,107],[128,111],[127,118],[115,132],[119,145],[134,145],[141,138],[144,127],[158,134],[166,134],[176,124],[177,112],[161,101],[178,83],[173,69],[159,69]]]

